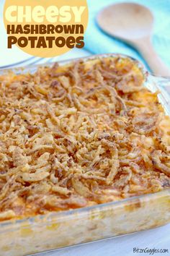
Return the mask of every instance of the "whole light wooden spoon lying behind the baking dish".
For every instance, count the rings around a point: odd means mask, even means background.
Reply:
[[[151,43],[153,20],[148,8],[135,3],[113,4],[102,9],[97,16],[102,30],[137,48],[154,74],[170,77],[170,69],[161,61]]]

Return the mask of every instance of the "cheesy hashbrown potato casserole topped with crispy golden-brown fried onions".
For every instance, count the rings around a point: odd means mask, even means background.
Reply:
[[[0,76],[0,220],[170,187],[170,118],[130,59]]]

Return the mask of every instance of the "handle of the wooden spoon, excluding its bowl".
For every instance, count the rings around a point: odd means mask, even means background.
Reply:
[[[135,40],[135,47],[146,59],[149,67],[153,71],[153,74],[163,77],[170,77],[170,69],[166,67],[164,62],[158,56],[151,43],[151,38],[143,38],[141,40]]]

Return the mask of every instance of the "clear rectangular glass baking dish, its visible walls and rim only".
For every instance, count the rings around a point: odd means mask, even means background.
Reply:
[[[104,58],[107,56],[128,56],[102,54],[83,58]],[[130,58],[130,57],[128,57]],[[132,58],[130,58],[132,59]],[[59,61],[63,65],[68,61]],[[160,90],[159,101],[170,115],[170,80],[149,74],[138,61],[146,77],[145,86],[155,92]],[[52,66],[49,64],[48,66]],[[47,64],[45,65],[47,66]],[[35,72],[39,66],[12,69],[13,72]],[[41,65],[42,67],[42,65]],[[10,72],[1,70],[0,74]],[[106,239],[145,229],[153,229],[170,222],[170,189],[148,195],[130,197],[76,210],[48,213],[48,215],[24,218],[0,223],[1,255],[29,255],[58,249],[74,244]]]

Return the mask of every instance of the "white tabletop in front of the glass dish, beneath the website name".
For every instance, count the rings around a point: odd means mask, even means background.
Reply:
[[[39,256],[132,256],[149,255],[147,253],[133,253],[133,248],[169,249],[169,253],[155,253],[154,255],[170,255],[170,224],[161,228],[141,231],[127,236],[115,237],[76,247],[58,249],[53,252],[38,254]]]

